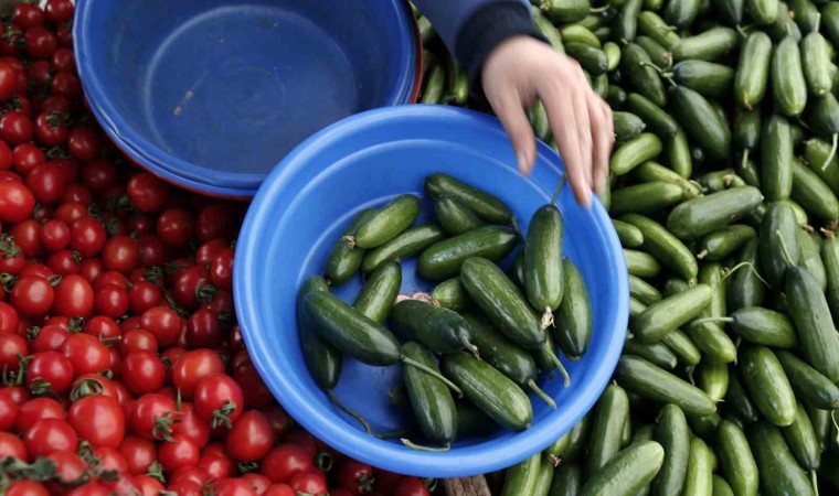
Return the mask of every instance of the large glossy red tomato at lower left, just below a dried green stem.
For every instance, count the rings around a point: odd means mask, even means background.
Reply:
[[[117,448],[125,436],[125,413],[116,399],[104,395],[74,402],[67,419],[78,436],[94,448]]]

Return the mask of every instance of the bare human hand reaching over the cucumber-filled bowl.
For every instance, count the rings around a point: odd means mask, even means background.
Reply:
[[[530,36],[513,36],[489,54],[481,82],[522,174],[533,169],[537,154],[524,109],[542,100],[574,196],[590,205],[592,190],[606,185],[615,134],[612,110],[588,86],[580,64]]]

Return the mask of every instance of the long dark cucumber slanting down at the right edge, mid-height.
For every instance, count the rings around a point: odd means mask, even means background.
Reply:
[[[792,267],[786,272],[784,293],[789,301],[789,316],[798,330],[798,343],[805,359],[828,379],[838,382],[839,334],[818,282],[805,269]]]

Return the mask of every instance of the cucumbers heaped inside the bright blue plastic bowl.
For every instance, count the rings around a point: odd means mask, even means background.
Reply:
[[[350,223],[323,277],[310,277],[298,292],[299,333],[315,381],[370,433],[332,395],[342,357],[378,366],[402,362],[403,382],[391,400],[416,419],[402,442],[445,451],[499,427],[528,429],[533,411],[525,389],[556,408],[537,381],[559,369],[570,384],[556,351],[571,358],[585,353],[592,310],[580,271],[562,256],[556,196],[522,236],[510,208],[489,193],[447,174],[427,176],[424,190],[436,223],[414,225],[421,200],[411,194]],[[400,262],[415,256],[418,276],[437,282],[431,294],[400,294]],[[507,271],[499,267],[505,261]],[[330,292],[359,272],[364,283],[352,305]]]

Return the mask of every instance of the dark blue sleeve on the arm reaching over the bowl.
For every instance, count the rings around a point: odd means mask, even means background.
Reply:
[[[533,26],[528,0],[414,0],[480,95],[480,72],[489,53],[514,35],[544,41]]]

